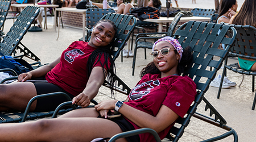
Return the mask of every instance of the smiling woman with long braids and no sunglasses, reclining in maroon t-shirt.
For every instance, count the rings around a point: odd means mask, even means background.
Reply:
[[[75,41],[50,64],[20,74],[17,82],[1,84],[0,111],[24,111],[32,97],[57,91],[67,93],[79,106],[88,106],[108,74],[113,83],[115,70],[110,47],[116,32],[117,27],[111,20],[100,20],[88,43]],[[38,99],[30,111],[52,111],[66,101],[62,96]]]

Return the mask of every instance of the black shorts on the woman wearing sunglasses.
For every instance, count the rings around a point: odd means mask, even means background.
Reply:
[[[101,115],[98,116],[98,118],[102,118]],[[112,119],[109,119],[109,120],[112,120],[114,123],[117,123],[118,126],[121,128],[121,130],[123,132],[135,130],[135,128],[133,127],[133,124],[131,124],[123,116],[120,116],[120,117],[117,117],[117,118],[112,118]],[[134,135],[134,136],[126,137],[126,140],[128,142],[139,142],[141,139],[139,139],[139,135]]]

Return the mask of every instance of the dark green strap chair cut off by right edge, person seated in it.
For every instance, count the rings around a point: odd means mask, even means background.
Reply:
[[[233,47],[230,49],[229,55],[232,57],[242,57],[246,59],[256,60],[256,56],[253,56],[256,53],[256,45],[255,45],[256,44],[256,38],[255,38],[256,28],[250,25],[242,26],[242,25],[232,24],[232,26],[236,28],[238,34]],[[220,86],[222,86],[224,76],[226,75],[226,69],[229,69],[235,73],[252,76],[252,91],[254,92],[254,80],[255,80],[254,78],[256,76],[256,72],[241,69],[238,66],[238,62],[230,65],[227,65],[227,63],[228,63],[228,58],[226,58],[225,60],[225,65],[224,65],[224,69],[221,76]],[[221,93],[221,87],[219,87],[218,89],[217,98],[220,98],[220,93]],[[251,107],[251,110],[255,109],[255,104],[256,104],[256,93],[254,95],[254,101],[253,101],[253,106]]]

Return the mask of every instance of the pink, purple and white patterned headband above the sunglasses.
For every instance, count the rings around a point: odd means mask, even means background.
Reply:
[[[154,51],[154,48],[155,48],[155,45],[157,43],[159,43],[160,41],[167,41],[168,43],[172,44],[172,46],[174,46],[174,48],[176,49],[176,51],[179,53],[180,55],[180,60],[181,60],[181,57],[182,57],[182,53],[183,53],[183,48],[181,47],[179,41],[177,41],[176,39],[170,37],[170,36],[166,36],[166,37],[163,37],[162,39],[159,39],[158,41],[156,41],[152,47],[152,51]],[[179,62],[180,62],[179,60]]]

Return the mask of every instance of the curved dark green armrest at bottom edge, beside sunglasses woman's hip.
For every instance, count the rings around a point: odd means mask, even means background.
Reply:
[[[155,137],[156,142],[161,142],[161,139],[158,136],[158,133],[156,133],[156,131],[152,130],[151,128],[141,128],[141,129],[137,129],[137,130],[118,133],[117,135],[114,135],[113,137],[111,137],[109,142],[113,142],[113,141],[115,141],[117,139],[120,139],[122,137],[138,135],[140,133],[151,133]]]

